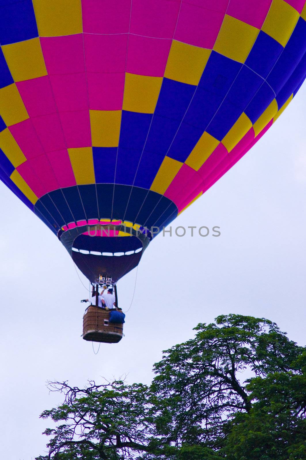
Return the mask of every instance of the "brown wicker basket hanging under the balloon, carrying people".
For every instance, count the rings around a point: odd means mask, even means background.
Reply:
[[[118,343],[123,324],[109,323],[109,311],[91,305],[83,316],[83,339],[93,342]]]

